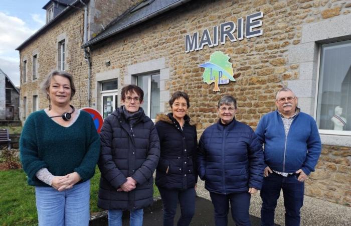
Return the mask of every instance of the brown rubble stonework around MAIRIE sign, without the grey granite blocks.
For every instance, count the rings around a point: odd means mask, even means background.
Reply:
[[[119,69],[116,77],[120,84],[130,82],[128,66],[142,65],[144,62],[162,61],[168,75],[160,86],[167,90],[168,96],[161,95],[161,106],[168,106],[169,95],[177,90],[185,90],[190,95],[190,116],[200,120],[198,135],[205,128],[216,122],[215,105],[220,96],[234,95],[238,99],[237,120],[256,128],[259,119],[267,112],[275,109],[275,94],[282,85],[299,79],[299,63],[289,63],[288,50],[301,42],[302,25],[328,20],[332,17],[350,13],[351,5],[346,1],[334,0],[289,0],[289,1],[192,1],[185,6],[174,9],[170,13],[129,29],[114,38],[104,41],[92,48],[92,90],[95,89],[95,75]],[[185,35],[204,29],[211,31],[213,26],[233,21],[240,17],[263,12],[263,35],[241,41],[190,53],[185,52]],[[322,31],[321,31],[322,32]],[[235,33],[236,35],[236,33]],[[203,68],[199,64],[209,61],[214,51],[223,51],[231,57],[236,82],[220,85],[221,92],[212,91],[214,84],[203,82]],[[105,61],[111,65],[106,66]],[[145,69],[145,72],[147,69]],[[126,81],[126,82],[125,82]],[[92,94],[93,95],[93,94]],[[299,96],[299,93],[297,93]],[[94,96],[93,102],[98,101]],[[168,111],[167,107],[161,111]],[[304,109],[302,109],[303,111]],[[327,146],[324,146],[325,152]],[[329,147],[328,149],[341,147]],[[347,148],[345,148],[347,149]],[[330,159],[338,157],[338,150],[331,153]],[[324,154],[320,162],[324,163]],[[325,166],[326,167],[326,163]],[[320,163],[318,165],[320,167]],[[342,167],[340,167],[342,168]],[[311,180],[306,182],[306,194],[342,204],[349,203],[350,194],[344,186],[336,187],[330,183],[328,187],[335,189],[328,196],[327,192],[315,194],[320,190],[324,179],[315,178],[321,169],[312,173]],[[349,171],[330,173],[331,178],[340,179],[340,175],[350,178]],[[316,176],[314,176],[316,174]],[[314,177],[314,178],[313,178]],[[326,185],[325,185],[326,186]],[[342,197],[339,202],[337,197]]]

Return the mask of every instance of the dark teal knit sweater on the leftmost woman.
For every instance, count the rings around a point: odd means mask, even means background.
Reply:
[[[33,112],[26,120],[20,138],[20,158],[28,184],[49,186],[36,177],[41,168],[54,176],[77,172],[82,181],[90,179],[100,154],[100,137],[85,111],[69,127],[54,122],[44,110]]]

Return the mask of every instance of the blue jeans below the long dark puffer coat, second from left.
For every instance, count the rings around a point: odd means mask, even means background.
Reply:
[[[108,210],[108,225],[109,226],[122,226],[122,209],[109,209]],[[142,219],[144,215],[143,209],[130,210],[129,225],[142,226]]]

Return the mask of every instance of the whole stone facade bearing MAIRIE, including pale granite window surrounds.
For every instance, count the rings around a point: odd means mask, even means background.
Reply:
[[[238,18],[256,12],[263,14],[262,26],[256,28],[262,29],[261,36],[185,51],[186,35],[193,38],[198,32],[200,40],[205,29],[212,36],[214,26],[228,21],[238,26]],[[140,76],[156,73],[159,80],[151,80],[158,85],[159,111],[169,111],[167,101],[174,91],[188,92],[189,114],[201,121],[199,136],[217,121],[215,105],[224,94],[237,97],[237,120],[253,129],[264,114],[275,109],[275,95],[282,86],[293,89],[301,110],[316,118],[319,52],[322,44],[349,40],[350,12],[349,2],[333,0],[190,1],[87,44],[92,58],[92,102],[104,111],[101,84],[105,80],[117,79],[120,95],[119,87],[143,84]],[[236,37],[237,31],[233,34]],[[230,57],[236,79],[220,85],[220,92],[213,91],[214,84],[203,82],[204,69],[199,67],[215,51]],[[152,90],[148,93],[152,95]],[[148,114],[152,118],[152,112]],[[351,205],[350,135],[349,131],[321,131],[323,151],[316,171],[306,182],[306,195]]]

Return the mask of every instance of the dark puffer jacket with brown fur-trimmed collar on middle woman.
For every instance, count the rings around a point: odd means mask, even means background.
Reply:
[[[196,150],[198,146],[194,121],[184,117],[183,130],[173,115],[157,115],[156,129],[161,154],[156,169],[155,183],[158,187],[184,190],[197,183]],[[168,168],[169,167],[169,168]],[[168,168],[168,173],[166,170]]]

